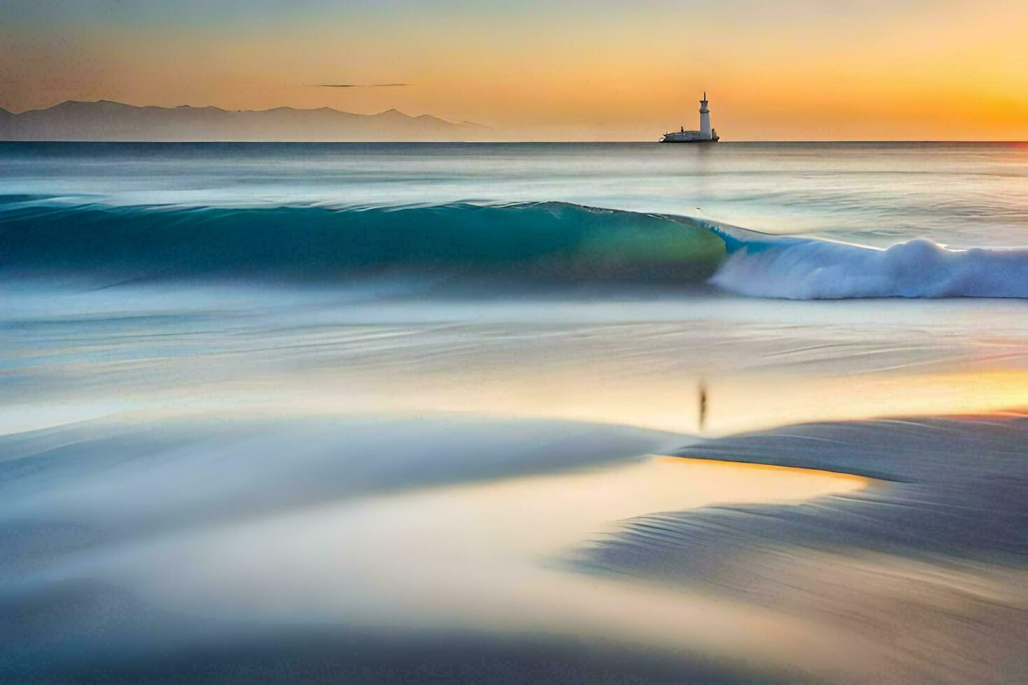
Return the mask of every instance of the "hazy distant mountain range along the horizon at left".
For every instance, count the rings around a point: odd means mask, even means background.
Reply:
[[[223,110],[217,107],[136,107],[109,100],[69,100],[12,114],[0,108],[0,141],[475,141],[487,126],[452,123],[397,110],[351,114],[313,110]]]

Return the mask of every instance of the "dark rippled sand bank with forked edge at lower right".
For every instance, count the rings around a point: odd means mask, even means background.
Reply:
[[[794,506],[649,515],[583,564],[703,587],[849,635],[876,679],[1028,675],[1028,419],[1014,412],[783,426],[687,457],[828,468],[868,487]]]

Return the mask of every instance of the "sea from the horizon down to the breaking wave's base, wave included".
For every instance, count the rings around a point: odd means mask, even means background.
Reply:
[[[0,155],[3,268],[15,276],[388,274],[467,288],[719,271],[722,290],[758,297],[1028,295],[1018,144],[6,144]],[[709,235],[724,225],[741,229],[728,260]]]

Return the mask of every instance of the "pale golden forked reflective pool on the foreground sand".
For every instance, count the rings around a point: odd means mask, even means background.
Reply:
[[[633,517],[719,503],[798,503],[867,483],[649,457],[292,510],[127,549],[113,568],[119,582],[142,584],[158,604],[198,614],[547,632],[778,667],[803,644],[830,655],[816,665],[822,673],[853,676],[862,667],[841,654],[840,636],[799,617],[555,562]]]

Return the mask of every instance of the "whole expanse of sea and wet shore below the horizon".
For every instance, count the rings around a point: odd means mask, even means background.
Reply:
[[[0,143],[0,298],[5,682],[1028,675],[1028,145]]]

